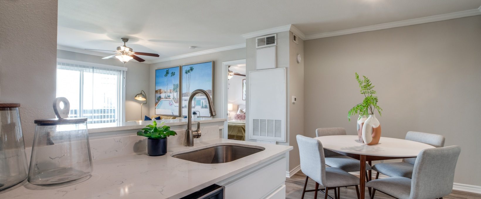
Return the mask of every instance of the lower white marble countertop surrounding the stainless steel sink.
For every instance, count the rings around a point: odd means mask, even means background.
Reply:
[[[223,164],[200,164],[171,157],[215,145],[253,145],[265,148],[247,157]],[[145,152],[94,161],[92,176],[70,186],[43,187],[29,183],[0,192],[1,199],[178,199],[241,173],[292,150],[291,146],[239,140],[213,139],[193,147],[169,147],[167,154],[152,157]]]

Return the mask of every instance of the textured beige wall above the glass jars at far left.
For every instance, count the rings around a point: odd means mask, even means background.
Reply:
[[[25,146],[35,119],[53,118],[57,0],[8,0],[0,6],[0,103],[20,103]]]

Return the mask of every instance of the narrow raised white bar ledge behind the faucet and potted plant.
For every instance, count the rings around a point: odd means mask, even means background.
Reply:
[[[158,124],[165,122],[164,125],[167,126],[179,126],[179,125],[187,125],[187,118],[180,118],[180,119],[161,119],[155,120]],[[192,124],[200,122],[200,123],[209,123],[209,122],[223,122],[226,121],[225,118],[213,118],[213,117],[198,117],[195,121],[192,121]],[[128,121],[128,122],[115,122],[115,123],[106,123],[106,124],[88,124],[87,128],[89,129],[89,133],[100,133],[100,132],[108,132],[108,131],[119,131],[119,130],[132,130],[132,129],[142,129],[148,124],[152,124],[153,120],[147,121]]]

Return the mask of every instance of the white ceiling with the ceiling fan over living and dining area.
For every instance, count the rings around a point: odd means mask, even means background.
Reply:
[[[293,24],[305,35],[478,9],[481,0],[60,0],[58,45],[163,59],[245,43],[242,34]],[[196,46],[189,49],[189,46]],[[109,55],[108,52],[98,52]]]

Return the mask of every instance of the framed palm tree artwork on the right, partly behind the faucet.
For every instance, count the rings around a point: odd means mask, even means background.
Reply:
[[[187,115],[187,101],[190,93],[197,89],[207,91],[214,100],[214,61],[190,64],[182,66],[182,116]],[[203,94],[198,94],[192,100],[192,111],[198,111],[200,117],[209,117],[207,98]]]

